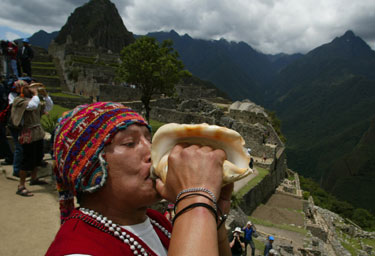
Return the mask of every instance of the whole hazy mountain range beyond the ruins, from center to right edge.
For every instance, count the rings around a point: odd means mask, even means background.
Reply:
[[[173,30],[147,35],[171,39],[185,68],[232,100],[248,98],[276,111],[291,169],[340,199],[375,210],[375,198],[365,193],[375,181],[369,153],[375,143],[365,143],[375,130],[375,52],[360,37],[349,30],[306,54],[268,55],[244,42],[193,39]],[[36,39],[34,34],[31,43]],[[356,171],[340,167],[359,156]],[[350,197],[347,185],[366,179],[358,196]]]

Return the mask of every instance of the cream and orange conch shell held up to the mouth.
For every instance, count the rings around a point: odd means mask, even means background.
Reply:
[[[205,123],[170,123],[160,127],[152,138],[152,177],[160,177],[165,183],[168,172],[168,156],[178,143],[199,144],[224,150],[227,160],[223,164],[223,186],[240,180],[253,172],[249,167],[250,155],[244,148],[245,141],[238,132]]]

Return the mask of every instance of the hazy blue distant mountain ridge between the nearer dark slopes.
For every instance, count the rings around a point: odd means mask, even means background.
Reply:
[[[248,98],[263,103],[265,84],[274,78],[276,71],[299,55],[266,55],[244,42],[193,39],[175,31],[153,32],[147,36],[159,42],[173,41],[185,67],[195,76],[213,82],[233,100]]]

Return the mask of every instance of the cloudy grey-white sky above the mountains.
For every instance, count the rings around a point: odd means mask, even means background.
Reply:
[[[59,31],[88,0],[1,0],[0,38]],[[352,30],[375,49],[375,0],[112,0],[135,34],[174,29],[244,41],[263,53],[306,53]]]

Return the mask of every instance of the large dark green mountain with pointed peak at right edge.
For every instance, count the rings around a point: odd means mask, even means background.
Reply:
[[[356,193],[355,200],[342,197],[344,183],[338,177],[354,176],[337,166],[349,154],[358,155],[355,148],[365,150],[360,141],[375,116],[374,70],[375,52],[348,31],[281,70],[267,91],[267,106],[282,120],[289,167],[320,180],[324,188],[353,205],[359,198],[366,201],[366,193]],[[363,152],[358,168],[367,166],[370,152]],[[369,172],[361,175],[370,180],[375,168],[368,167]]]

